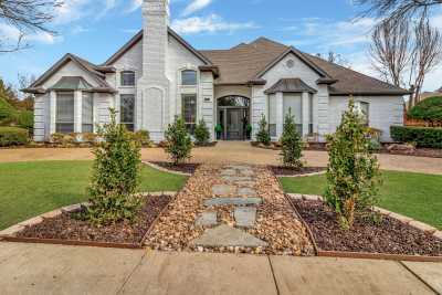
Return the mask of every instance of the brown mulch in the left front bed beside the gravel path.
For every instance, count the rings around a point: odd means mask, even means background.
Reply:
[[[76,212],[63,212],[53,219],[27,226],[18,238],[56,239],[86,242],[139,244],[150,225],[171,201],[170,196],[144,197],[145,203],[134,223],[124,221],[106,226],[95,226],[88,221],[75,219],[85,208]]]

